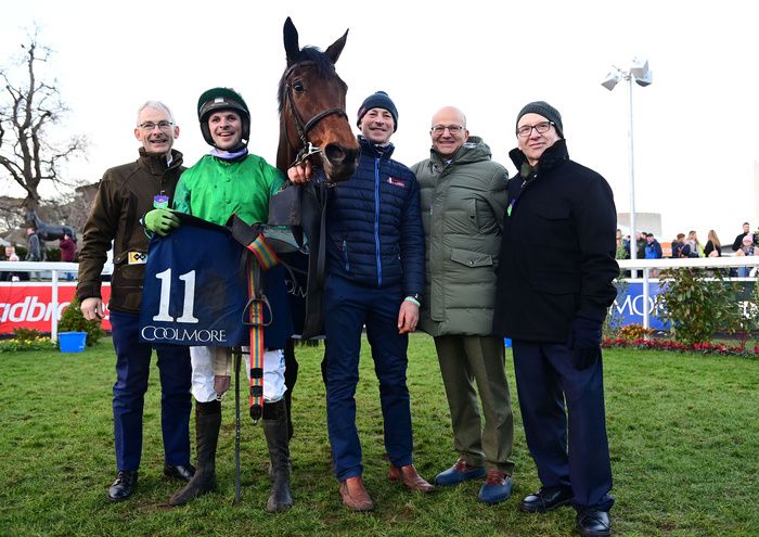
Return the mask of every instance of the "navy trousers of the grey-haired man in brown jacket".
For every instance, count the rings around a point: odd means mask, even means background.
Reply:
[[[136,471],[142,458],[142,410],[150,376],[153,348],[140,343],[139,314],[111,310],[111,327],[116,349],[114,384],[114,438],[118,470]],[[190,463],[189,347],[156,346],[160,375],[160,429],[164,458],[169,465]]]

